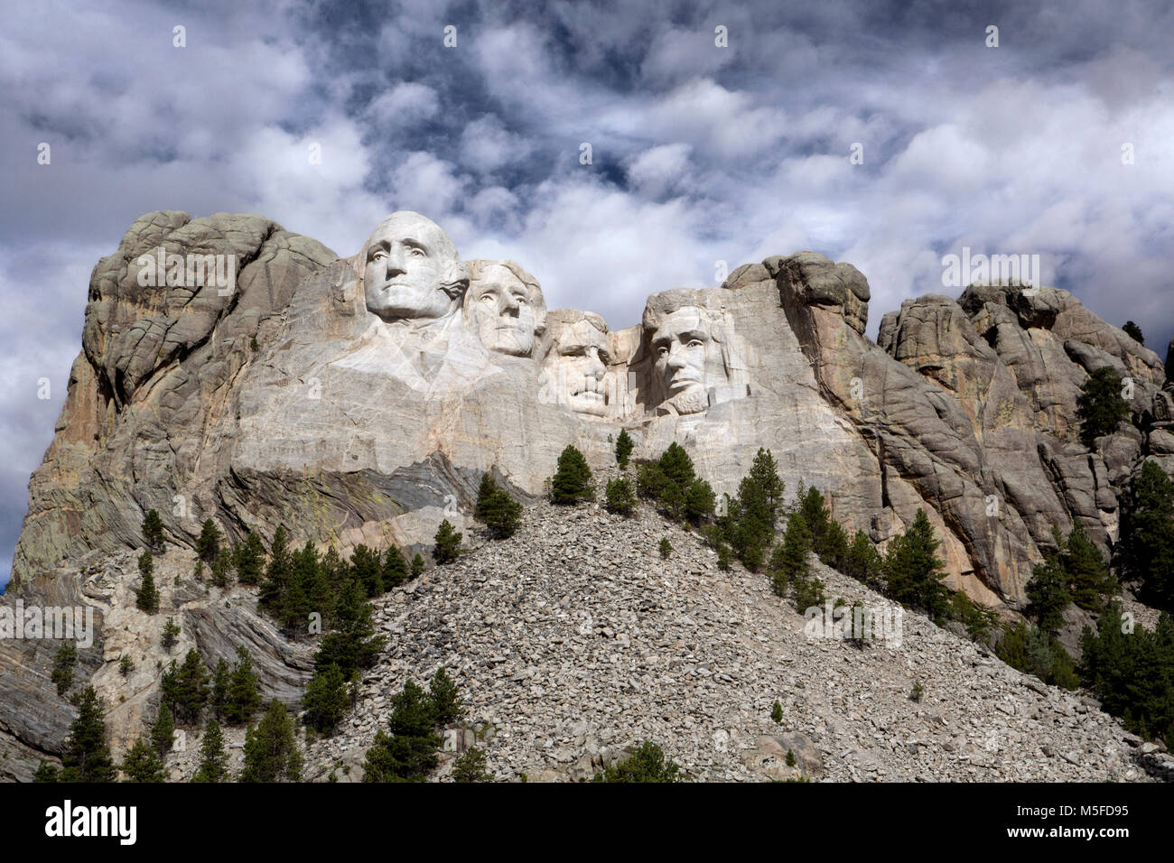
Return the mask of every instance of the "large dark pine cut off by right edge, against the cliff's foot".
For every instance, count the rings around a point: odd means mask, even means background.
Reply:
[[[1151,605],[1174,611],[1174,481],[1147,459],[1121,506],[1121,564]]]

